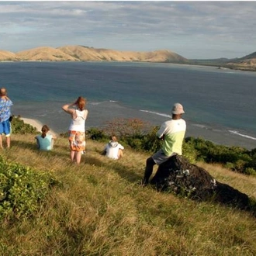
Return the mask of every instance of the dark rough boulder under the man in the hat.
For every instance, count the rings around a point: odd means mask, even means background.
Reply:
[[[216,181],[205,169],[190,164],[182,156],[175,155],[160,164],[150,183],[156,185],[157,190],[175,192],[191,199],[251,209],[251,200],[246,194]]]

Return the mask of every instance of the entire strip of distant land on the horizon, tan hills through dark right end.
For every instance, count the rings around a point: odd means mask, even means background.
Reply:
[[[256,52],[240,58],[192,59],[189,60],[171,50],[119,51],[96,49],[81,45],[64,47],[36,47],[16,54],[0,50],[0,61],[138,61],[175,64],[198,64],[256,71]]]

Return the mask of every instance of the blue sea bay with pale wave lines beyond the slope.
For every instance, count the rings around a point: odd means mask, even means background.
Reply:
[[[87,129],[114,118],[139,118],[152,126],[184,106],[186,136],[216,144],[256,148],[256,72],[182,64],[119,62],[0,62],[0,86],[12,114],[67,131],[61,106],[88,100]]]

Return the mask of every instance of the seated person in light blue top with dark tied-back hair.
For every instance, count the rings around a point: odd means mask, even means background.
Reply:
[[[45,124],[43,125],[41,130],[42,134],[35,137],[36,144],[39,150],[47,151],[54,148],[54,140],[56,139],[56,137],[51,134],[47,134],[49,130],[49,127]]]

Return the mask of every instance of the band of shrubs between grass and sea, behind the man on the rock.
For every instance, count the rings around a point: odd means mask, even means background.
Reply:
[[[144,150],[150,154],[161,148],[162,140],[156,136],[159,126],[150,127],[140,119],[113,119],[99,130],[88,130],[92,140],[108,140],[109,135],[116,134],[119,141],[133,150]],[[256,169],[256,149],[244,147],[227,147],[213,144],[202,138],[186,137],[182,146],[183,155],[195,164],[196,161],[218,163],[247,175],[253,175]]]

